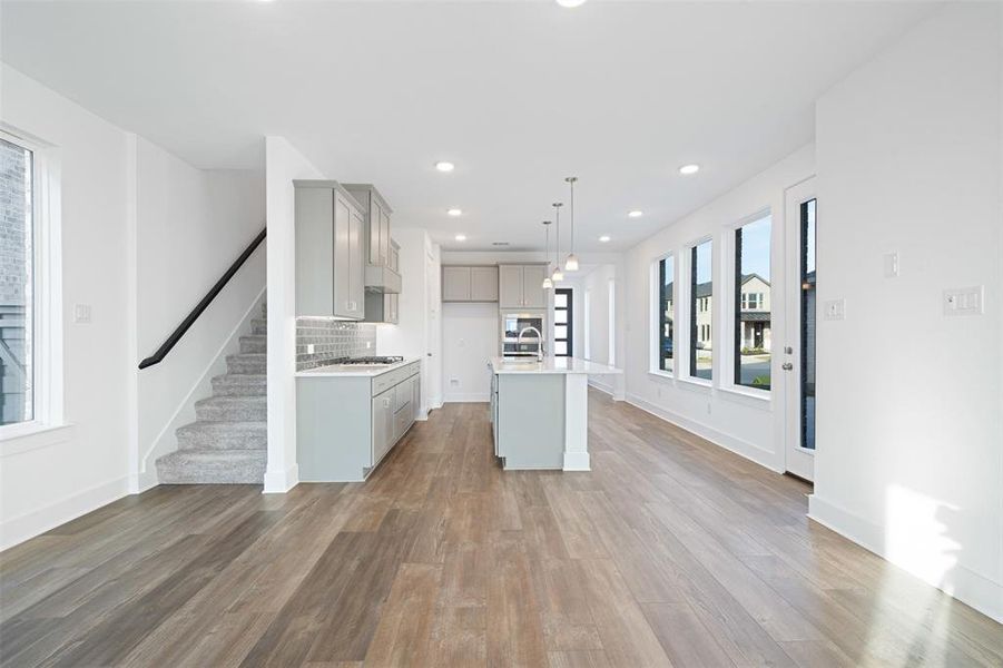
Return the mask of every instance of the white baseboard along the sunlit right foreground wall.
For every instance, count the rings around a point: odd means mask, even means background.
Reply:
[[[941,581],[924,578],[923,573],[911,570],[908,564],[898,563],[888,556],[888,551],[885,549],[884,527],[875,524],[835,503],[819,499],[817,494],[808,497],[808,517],[924,582],[936,587],[944,593],[975,608],[996,621],[1003,622],[1003,583],[996,582],[960,563],[956,563]]]

